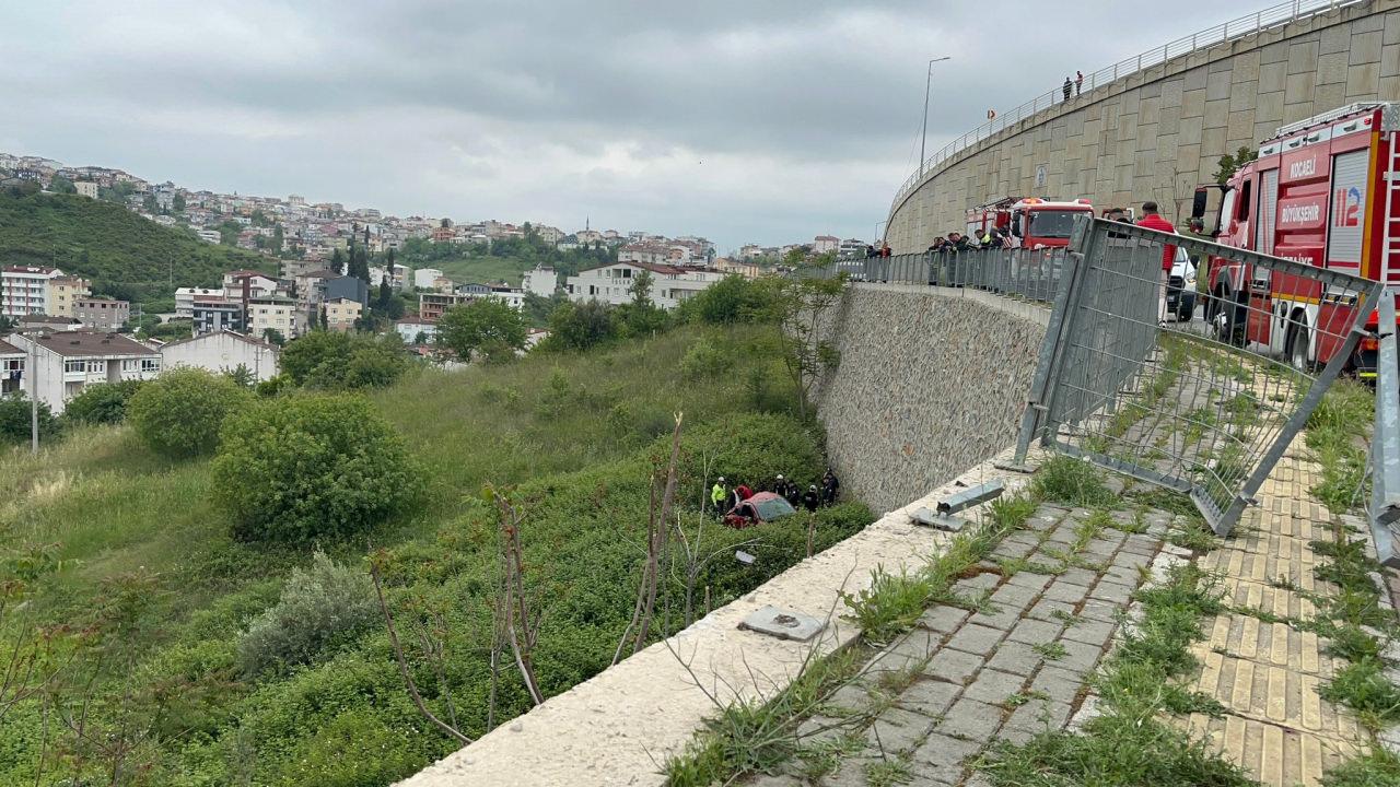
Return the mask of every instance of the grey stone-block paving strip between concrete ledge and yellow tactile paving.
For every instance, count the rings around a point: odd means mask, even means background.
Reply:
[[[1106,527],[1102,514],[1082,508],[1042,506],[993,562],[953,585],[973,609],[932,606],[881,650],[799,728],[805,744],[864,741],[819,784],[986,784],[966,763],[994,741],[1022,742],[1068,724],[1170,522],[1156,511],[1141,521],[1113,517],[1145,532]],[[907,770],[879,776],[899,755],[907,755]],[[809,781],[766,776],[748,784]]]

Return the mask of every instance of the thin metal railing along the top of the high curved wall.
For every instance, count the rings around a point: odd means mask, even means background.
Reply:
[[[937,169],[945,161],[958,155],[963,150],[1011,126],[1015,126],[1028,118],[1033,118],[1043,109],[1049,109],[1056,104],[1064,104],[1068,99],[1078,98],[1084,92],[1091,92],[1095,88],[1103,87],[1145,69],[1161,66],[1173,57],[1189,55],[1197,49],[1208,49],[1211,46],[1245,38],[1247,35],[1254,35],[1256,32],[1285,25],[1296,20],[1315,17],[1345,6],[1358,6],[1365,1],[1369,0],[1294,0],[1291,3],[1280,3],[1246,17],[1239,17],[1189,36],[1163,43],[1162,46],[1154,46],[1135,57],[1127,57],[1113,63],[1112,66],[1105,66],[1092,74],[1085,74],[1081,85],[1071,85],[1070,97],[1064,95],[1063,85],[1057,85],[1054,90],[1046,91],[1015,109],[998,113],[991,120],[987,120],[986,123],[934,151],[934,154],[920,162],[920,165],[914,169],[914,174],[910,175],[903,185],[900,185],[899,192],[895,195],[895,200],[890,204],[890,213],[893,213],[893,210],[899,206],[900,200],[909,196],[909,193],[918,186],[920,181],[923,181],[924,175],[927,175],[931,169]]]

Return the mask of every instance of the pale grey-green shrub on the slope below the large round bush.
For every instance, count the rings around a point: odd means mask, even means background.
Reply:
[[[238,665],[248,675],[308,664],[329,647],[374,622],[370,577],[316,552],[311,567],[293,569],[277,604],[259,615],[238,640]]]

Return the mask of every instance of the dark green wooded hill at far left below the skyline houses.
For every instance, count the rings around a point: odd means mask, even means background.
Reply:
[[[49,265],[91,279],[94,293],[147,302],[209,287],[225,270],[274,272],[260,255],[206,244],[119,204],[74,195],[0,192],[0,265]]]

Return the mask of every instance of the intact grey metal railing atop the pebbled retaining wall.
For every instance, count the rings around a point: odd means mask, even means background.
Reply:
[[[853,281],[973,287],[1032,301],[1054,300],[1065,249],[970,249],[846,259],[809,274],[846,273]]]

